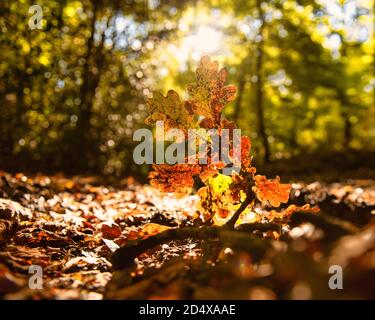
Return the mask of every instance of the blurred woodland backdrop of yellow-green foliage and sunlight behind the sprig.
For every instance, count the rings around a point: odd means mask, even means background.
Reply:
[[[41,30],[29,27],[34,4]],[[238,87],[224,110],[257,163],[375,168],[374,11],[370,0],[2,0],[0,168],[144,176],[132,159],[144,98],[186,96],[205,54]]]

